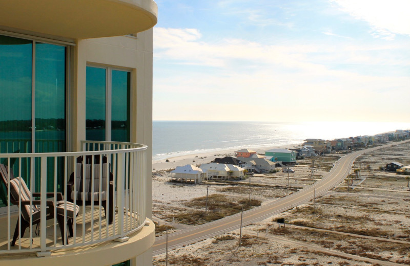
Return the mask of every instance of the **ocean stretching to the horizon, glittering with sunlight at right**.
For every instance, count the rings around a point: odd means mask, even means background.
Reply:
[[[153,160],[200,152],[263,148],[408,129],[410,123],[153,121]]]

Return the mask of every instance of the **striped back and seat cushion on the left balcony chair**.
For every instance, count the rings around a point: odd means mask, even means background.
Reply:
[[[21,198],[22,201],[30,201],[31,192],[26,185],[24,179],[18,176],[10,180],[10,194],[13,197],[13,200],[18,202],[18,198]],[[30,216],[33,216],[33,222],[40,218],[40,209],[37,205],[23,205],[22,206],[22,215],[26,221],[30,221]]]

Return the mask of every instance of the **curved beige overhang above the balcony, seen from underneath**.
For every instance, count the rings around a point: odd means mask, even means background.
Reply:
[[[153,0],[2,1],[0,26],[71,39],[120,36],[152,28]]]

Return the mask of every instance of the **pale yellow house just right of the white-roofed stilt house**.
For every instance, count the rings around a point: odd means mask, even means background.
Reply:
[[[206,173],[207,180],[242,179],[245,170],[237,165],[218,163],[201,164],[199,168]]]

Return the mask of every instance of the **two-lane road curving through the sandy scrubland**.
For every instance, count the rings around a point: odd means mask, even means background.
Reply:
[[[395,142],[391,144],[382,145],[370,149],[347,154],[336,162],[332,170],[326,174],[320,181],[299,190],[296,193],[279,198],[263,206],[259,206],[248,211],[243,212],[242,225],[250,225],[256,221],[263,220],[274,214],[281,213],[291,209],[300,204],[313,200],[316,189],[316,197],[323,195],[325,192],[331,190],[338,185],[348,173],[350,173],[354,160],[365,152],[371,152],[376,149],[389,147],[392,145],[401,144],[402,142]],[[207,239],[225,232],[230,232],[240,227],[240,213],[212,221],[211,223],[200,226],[190,227],[181,231],[168,235],[168,248],[175,249],[183,245],[190,245],[197,241]],[[153,245],[153,254],[161,254],[166,249],[166,237],[160,236],[155,239]]]

